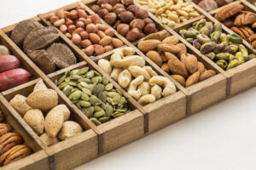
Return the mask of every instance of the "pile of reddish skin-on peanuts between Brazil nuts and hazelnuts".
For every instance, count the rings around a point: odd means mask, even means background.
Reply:
[[[102,25],[97,14],[86,14],[82,6],[71,11],[59,8],[55,14],[48,14],[47,19],[90,57],[124,45],[114,37],[113,29]]]

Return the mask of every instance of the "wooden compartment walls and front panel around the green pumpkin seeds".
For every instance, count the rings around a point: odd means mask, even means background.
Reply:
[[[84,66],[88,66],[85,61],[80,62],[77,65],[70,66],[64,70],[50,74],[49,78],[54,82],[56,79],[62,77],[65,71],[79,69]],[[91,65],[89,65],[89,67],[90,69],[93,69]],[[96,133],[99,135],[99,154],[108,153],[111,150],[115,150],[120,146],[123,146],[143,137],[143,114],[137,110],[137,106],[134,105],[133,101],[128,99],[128,102],[131,107],[131,112],[123,116],[119,116],[109,122],[104,122],[101,125],[95,127]],[[77,108],[77,110],[79,111],[79,108]],[[84,115],[82,111],[79,112]],[[86,116],[84,115],[84,117]],[[88,118],[86,117],[86,119]]]

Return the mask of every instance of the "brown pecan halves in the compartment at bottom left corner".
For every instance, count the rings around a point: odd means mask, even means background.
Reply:
[[[32,150],[23,143],[19,133],[11,132],[9,123],[4,122],[5,116],[0,111],[0,167],[32,154]]]

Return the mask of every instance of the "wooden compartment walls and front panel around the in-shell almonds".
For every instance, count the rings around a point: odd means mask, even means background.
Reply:
[[[38,78],[32,82],[28,82],[24,85],[16,87],[14,90],[5,91],[3,92],[3,96],[8,101],[13,99],[15,94],[28,96],[32,93],[35,84],[39,80],[41,79]],[[45,83],[49,88],[51,88],[47,82]],[[90,124],[87,124],[87,122],[84,121],[84,118],[73,109],[72,105],[68,104],[64,99],[62,99],[60,94],[58,94],[58,96],[59,104],[67,105],[67,108],[71,111],[69,120],[79,122],[79,124],[84,128],[84,132],[74,136],[71,139],[63,140],[49,147],[44,145],[43,149],[49,156],[50,169],[71,169],[98,156],[97,136],[96,133],[90,129]],[[17,115],[16,118],[24,122],[20,115]],[[32,128],[29,127],[29,125],[26,124],[26,126],[28,126],[27,128],[32,131]],[[35,135],[38,137],[37,134]],[[41,141],[41,143],[43,143],[43,141]]]

